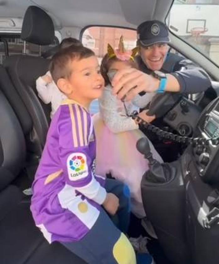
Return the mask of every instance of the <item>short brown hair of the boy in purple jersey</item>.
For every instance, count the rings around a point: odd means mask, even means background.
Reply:
[[[81,60],[91,56],[95,56],[95,53],[84,46],[73,45],[58,51],[52,57],[52,61],[49,66],[52,79],[57,84],[58,79],[69,78],[72,73],[69,63],[73,60]]]

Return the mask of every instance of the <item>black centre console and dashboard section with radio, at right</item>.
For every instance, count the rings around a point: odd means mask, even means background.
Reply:
[[[142,199],[172,263],[217,264],[219,98],[202,111],[193,137],[180,159],[172,163],[158,164],[145,154],[149,172],[142,178]]]

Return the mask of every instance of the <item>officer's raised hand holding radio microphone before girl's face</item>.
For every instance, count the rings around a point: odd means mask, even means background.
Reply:
[[[156,91],[159,87],[159,80],[137,69],[128,68],[115,74],[112,86],[112,92],[114,95],[117,94],[118,99],[125,98],[129,101],[142,91]]]

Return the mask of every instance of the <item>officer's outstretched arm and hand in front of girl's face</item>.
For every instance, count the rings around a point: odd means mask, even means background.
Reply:
[[[166,75],[165,91],[197,93],[211,86],[211,81],[204,70],[199,67],[182,67],[180,71]],[[157,92],[160,80],[137,69],[127,68],[118,71],[112,80],[112,93],[118,99],[132,100],[142,91]]]

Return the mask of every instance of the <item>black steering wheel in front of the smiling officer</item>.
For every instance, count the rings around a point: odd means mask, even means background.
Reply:
[[[180,93],[158,93],[151,100],[147,115],[156,115],[156,118],[165,116],[181,98],[182,94]]]

